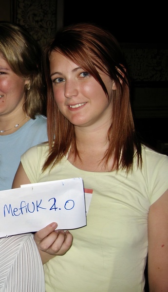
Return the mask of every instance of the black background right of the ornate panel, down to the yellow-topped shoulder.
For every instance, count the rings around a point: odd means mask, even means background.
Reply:
[[[111,3],[111,5],[110,5]],[[104,5],[103,5],[104,4]],[[77,13],[76,13],[77,9]],[[132,77],[135,125],[143,140],[168,154],[168,27],[166,6],[140,1],[65,1],[64,25],[93,22],[120,42]]]

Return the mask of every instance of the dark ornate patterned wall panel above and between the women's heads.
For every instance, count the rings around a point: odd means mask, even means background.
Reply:
[[[56,33],[57,0],[12,0],[12,20],[25,27],[43,48]]]

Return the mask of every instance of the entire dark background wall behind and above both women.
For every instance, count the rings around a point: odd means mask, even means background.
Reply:
[[[110,30],[132,78],[137,131],[168,154],[168,24],[163,1],[0,0],[0,20],[24,26],[43,48],[61,26],[93,22]]]

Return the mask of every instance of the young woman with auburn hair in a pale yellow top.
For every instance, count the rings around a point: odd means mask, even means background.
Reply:
[[[43,56],[49,142],[21,157],[14,187],[81,177],[87,225],[44,265],[46,292],[168,291],[168,156],[141,144],[117,40],[64,27]]]

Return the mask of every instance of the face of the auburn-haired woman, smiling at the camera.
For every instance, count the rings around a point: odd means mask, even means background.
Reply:
[[[100,84],[81,67],[58,52],[52,52],[50,74],[54,97],[61,113],[75,126],[102,126],[111,124],[112,90],[111,78],[99,72],[109,93],[111,102]]]

